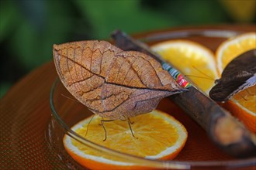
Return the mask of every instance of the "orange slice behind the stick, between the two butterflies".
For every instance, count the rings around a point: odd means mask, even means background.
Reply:
[[[219,76],[213,52],[197,42],[169,40],[151,46],[168,63],[187,76],[207,95]]]

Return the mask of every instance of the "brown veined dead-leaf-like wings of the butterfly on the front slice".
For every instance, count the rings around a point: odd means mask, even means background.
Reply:
[[[147,113],[163,97],[183,90],[150,56],[105,41],[54,45],[54,63],[67,90],[110,119]]]

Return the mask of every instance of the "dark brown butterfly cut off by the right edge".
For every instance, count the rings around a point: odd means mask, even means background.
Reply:
[[[256,49],[249,50],[233,59],[223,70],[221,78],[209,91],[216,101],[227,101],[235,93],[256,83]]]

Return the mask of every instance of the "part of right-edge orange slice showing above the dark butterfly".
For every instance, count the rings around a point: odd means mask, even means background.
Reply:
[[[219,73],[223,72],[225,66],[235,57],[250,49],[256,48],[256,33],[248,32],[227,39],[220,44],[216,50],[216,63]]]

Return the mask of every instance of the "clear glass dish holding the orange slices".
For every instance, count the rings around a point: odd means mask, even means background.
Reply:
[[[209,49],[216,50],[216,46],[230,36],[236,35],[234,31],[220,30],[182,30],[178,32],[164,32],[164,34],[151,34],[151,36],[139,37],[149,44],[159,42],[162,39],[190,39],[197,42],[209,42],[204,44]],[[153,35],[153,36],[152,36]],[[165,36],[164,36],[165,35]],[[71,130],[74,124],[90,117],[93,113],[87,107],[80,104],[65,89],[60,80],[56,80],[50,91],[50,108],[52,110],[52,118],[47,128],[47,143],[53,148],[60,160],[70,169],[84,169],[68,155],[64,149],[64,134],[68,134],[74,140],[80,141],[83,145],[93,150],[102,151],[106,155],[112,157],[123,158],[126,163],[136,164],[144,168],[159,169],[191,169],[191,168],[254,168],[255,158],[238,159],[230,157],[220,151],[216,145],[209,140],[205,131],[199,127],[192,119],[186,115],[171,100],[163,99],[158,104],[157,109],[171,114],[173,117],[182,122],[188,131],[189,137],[180,154],[174,160],[161,161],[139,158],[133,155],[126,155],[118,151],[113,151],[100,145],[88,141]]]

